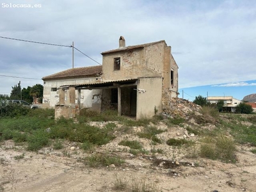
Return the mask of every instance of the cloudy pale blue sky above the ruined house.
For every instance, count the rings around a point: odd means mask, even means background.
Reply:
[[[237,99],[255,93],[245,84],[205,88],[256,79],[254,0],[12,0],[12,7],[10,2],[0,3],[0,36],[60,45],[74,42],[99,63],[101,52],[118,48],[121,35],[126,45],[165,40],[179,66],[180,90]],[[22,4],[33,8],[21,8]],[[80,52],[74,57],[74,67],[98,65]],[[10,94],[19,81],[22,88],[43,84],[42,77],[71,67],[69,47],[0,38],[0,94]]]

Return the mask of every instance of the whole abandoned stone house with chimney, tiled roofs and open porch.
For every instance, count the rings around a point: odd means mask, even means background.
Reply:
[[[125,46],[102,52],[102,65],[70,68],[43,77],[43,106],[55,108],[56,116],[74,117],[79,109],[119,115],[151,117],[161,113],[163,90],[177,97],[178,66],[164,40]],[[166,95],[166,94],[164,94]]]

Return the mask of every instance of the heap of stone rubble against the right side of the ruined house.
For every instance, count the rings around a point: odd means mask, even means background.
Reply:
[[[202,107],[179,97],[170,97],[168,90],[163,92],[163,115],[170,117],[180,116],[186,118],[190,115],[200,115]]]

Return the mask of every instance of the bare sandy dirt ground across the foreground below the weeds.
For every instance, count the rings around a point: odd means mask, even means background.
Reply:
[[[159,127],[165,128],[161,124]],[[139,129],[134,127],[134,131]],[[180,138],[184,131],[182,127],[173,127],[159,134],[159,138],[163,141]],[[15,146],[12,140],[2,141],[0,191],[122,191],[115,188],[120,184],[125,184],[126,191],[140,185],[148,186],[151,191],[164,192],[256,191],[256,155],[250,152],[250,146],[238,145],[237,163],[232,164],[209,159],[186,159],[179,148],[166,144],[156,145],[156,148],[163,150],[163,154],[133,156],[125,150],[127,147],[118,145],[124,138],[139,140],[145,150],[152,148],[145,139],[116,133],[115,140],[95,150],[120,156],[125,163],[122,166],[112,164],[90,168],[80,161],[88,154],[77,143],[65,142],[61,150],[47,147],[36,153]],[[197,140],[197,136],[189,140]]]

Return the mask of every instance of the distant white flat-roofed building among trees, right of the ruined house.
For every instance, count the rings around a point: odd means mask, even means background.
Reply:
[[[235,112],[236,106],[241,103],[241,100],[235,99],[232,96],[211,96],[207,97],[207,102],[211,104],[217,104],[219,100],[223,100],[223,111]]]

